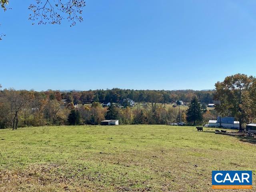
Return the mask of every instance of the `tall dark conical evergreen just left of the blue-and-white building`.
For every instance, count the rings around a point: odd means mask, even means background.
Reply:
[[[192,99],[187,112],[187,121],[196,124],[196,121],[202,121],[202,112],[200,103],[198,103],[197,98]]]

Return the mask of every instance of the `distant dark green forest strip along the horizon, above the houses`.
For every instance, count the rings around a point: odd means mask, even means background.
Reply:
[[[201,103],[212,103],[215,90],[130,90],[113,88],[108,90],[88,90],[88,91],[70,91],[60,92],[48,90],[43,92],[52,99],[67,99],[74,104],[88,104],[94,101],[101,103],[117,103],[124,98],[130,98],[134,102],[152,102],[152,94],[158,95],[160,103],[170,103],[176,100],[182,100],[189,103],[196,96]]]

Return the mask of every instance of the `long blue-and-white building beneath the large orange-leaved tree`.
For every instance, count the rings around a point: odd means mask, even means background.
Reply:
[[[228,129],[239,129],[239,121],[234,117],[218,117],[217,120],[209,120],[209,127],[223,127]]]

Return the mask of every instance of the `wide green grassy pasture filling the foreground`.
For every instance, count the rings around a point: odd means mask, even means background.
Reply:
[[[212,170],[255,181],[254,142],[165,125],[0,130],[0,191],[218,191]]]

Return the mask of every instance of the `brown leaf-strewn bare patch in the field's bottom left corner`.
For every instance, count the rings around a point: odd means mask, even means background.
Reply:
[[[89,185],[78,184],[74,177],[60,174],[56,164],[30,166],[23,171],[0,170],[0,191],[91,192]],[[96,191],[96,190],[94,190]]]

